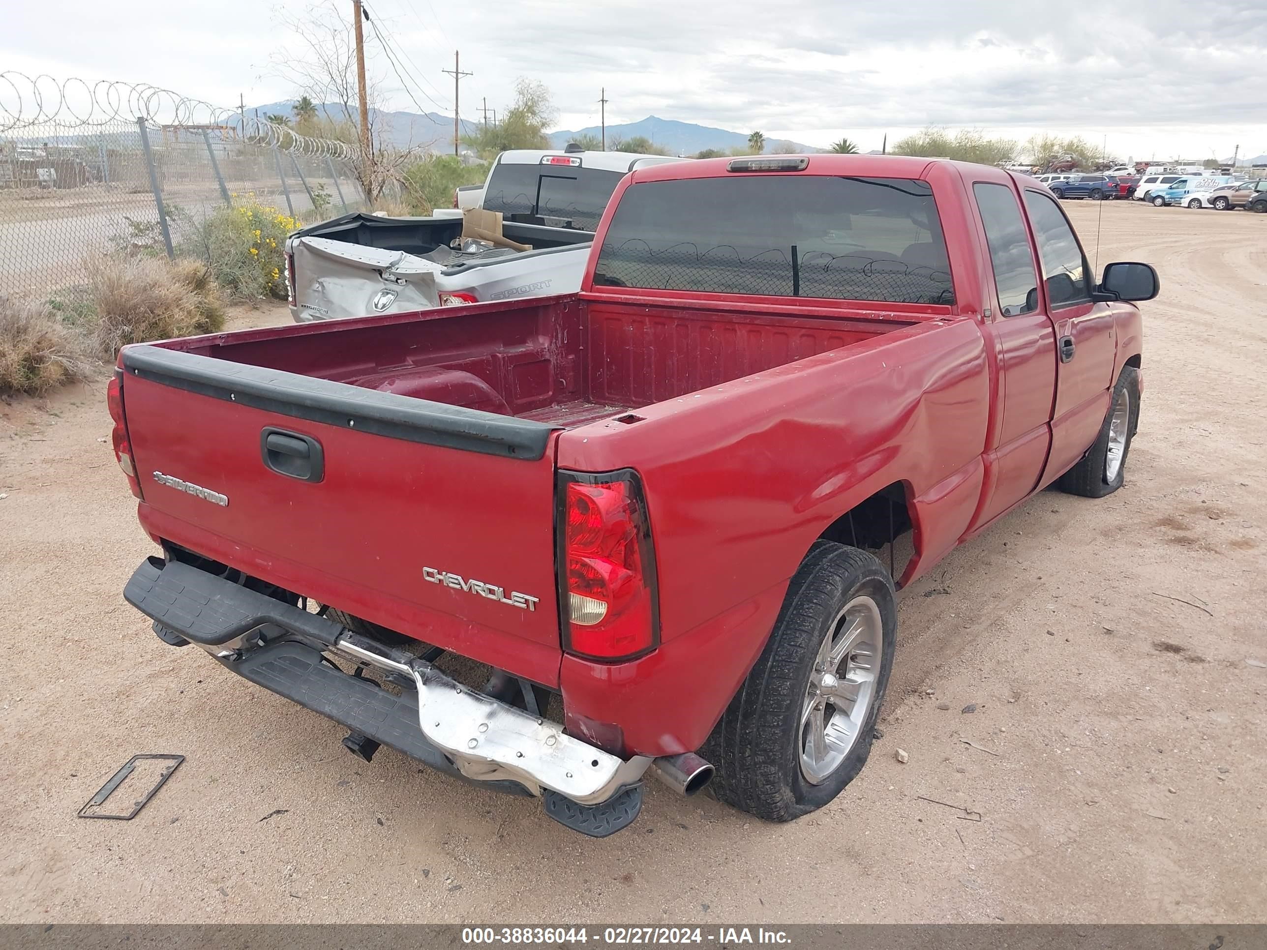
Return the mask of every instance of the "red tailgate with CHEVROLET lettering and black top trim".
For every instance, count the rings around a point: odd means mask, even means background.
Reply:
[[[551,426],[163,347],[122,362],[152,535],[557,683]]]

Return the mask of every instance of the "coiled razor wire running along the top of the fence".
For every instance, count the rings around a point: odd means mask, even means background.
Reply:
[[[345,161],[356,157],[356,149],[346,142],[302,136],[289,125],[147,82],[89,82],[79,77],[58,80],[47,73],[32,77],[11,70],[0,72],[0,133],[48,127],[100,128],[137,119],[174,129],[218,129],[222,136],[229,133],[252,144],[302,156]]]

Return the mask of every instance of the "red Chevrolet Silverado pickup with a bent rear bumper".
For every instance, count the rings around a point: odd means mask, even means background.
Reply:
[[[631,822],[858,774],[895,589],[1059,480],[1123,484],[1144,263],[895,156],[642,168],[578,294],[125,347],[114,448],[175,646],[454,775]],[[908,535],[908,537],[907,537]]]

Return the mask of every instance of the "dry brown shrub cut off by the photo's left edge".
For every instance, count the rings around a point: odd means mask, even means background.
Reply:
[[[89,366],[82,337],[48,304],[0,295],[0,393],[41,395]]]

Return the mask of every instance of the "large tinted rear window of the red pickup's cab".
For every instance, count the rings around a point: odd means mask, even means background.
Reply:
[[[631,186],[595,286],[954,303],[933,189],[915,179],[729,175]]]

